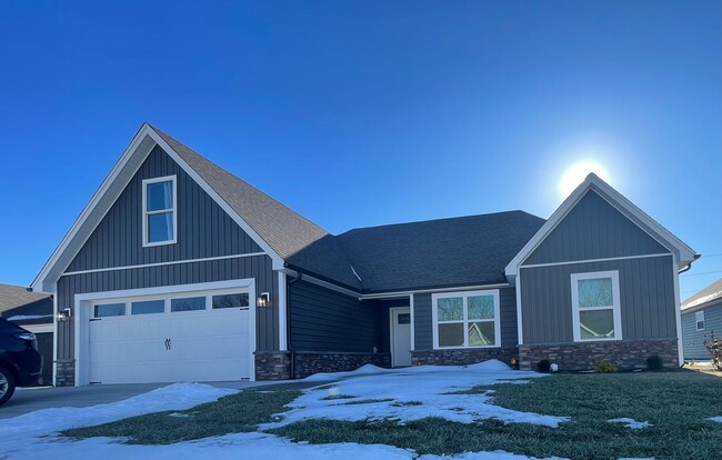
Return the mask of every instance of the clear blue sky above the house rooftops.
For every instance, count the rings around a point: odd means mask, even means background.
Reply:
[[[62,4],[61,4],[62,3]],[[149,121],[327,230],[523,209],[572,164],[722,277],[719,1],[0,3],[0,282]]]

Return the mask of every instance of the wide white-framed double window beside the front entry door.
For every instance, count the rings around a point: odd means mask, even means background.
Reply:
[[[432,296],[434,348],[500,347],[499,291]]]

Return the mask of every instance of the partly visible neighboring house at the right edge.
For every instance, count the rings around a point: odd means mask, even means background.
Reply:
[[[704,339],[710,332],[722,336],[722,278],[682,302],[684,359],[711,359]]]

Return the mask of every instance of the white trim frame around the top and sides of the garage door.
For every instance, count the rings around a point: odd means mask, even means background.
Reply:
[[[76,294],[73,304],[73,356],[76,359],[76,387],[88,384],[88,324],[89,308],[93,300],[123,299],[146,296],[170,296],[184,292],[207,292],[223,289],[248,289],[249,292],[249,354],[250,354],[250,380],[255,380],[255,280],[252,278],[215,282],[199,282],[194,284],[162,286],[157,288],[127,289],[122,291],[89,292]]]

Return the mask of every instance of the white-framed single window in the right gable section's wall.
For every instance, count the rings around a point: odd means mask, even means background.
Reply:
[[[572,273],[574,341],[620,340],[619,272]]]

